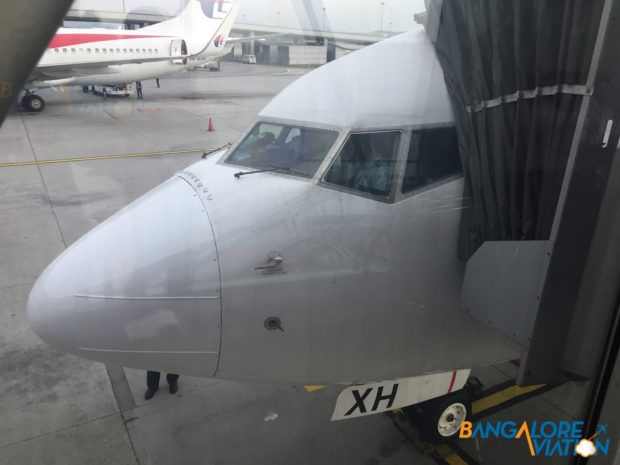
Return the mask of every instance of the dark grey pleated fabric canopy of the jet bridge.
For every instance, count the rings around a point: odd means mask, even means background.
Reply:
[[[549,239],[603,1],[441,3],[435,46],[472,197],[461,253]]]

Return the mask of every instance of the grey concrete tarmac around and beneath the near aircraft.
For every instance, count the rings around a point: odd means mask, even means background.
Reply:
[[[145,401],[143,371],[61,353],[28,325],[30,288],[60,252],[203,149],[233,142],[305,72],[223,62],[159,89],[144,82],[140,101],[67,88],[41,93],[43,113],[14,108],[0,128],[0,165],[17,164],[0,166],[0,465],[436,463],[387,415],[330,422],[336,386],[182,376],[178,393],[162,379]],[[475,374],[493,384],[514,370]],[[578,418],[587,387],[569,382],[495,415]],[[463,447],[479,463],[523,463],[524,446],[505,442]]]

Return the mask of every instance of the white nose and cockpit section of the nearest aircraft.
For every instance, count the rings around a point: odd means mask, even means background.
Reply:
[[[120,366],[293,384],[452,371],[450,392],[456,371],[518,357],[460,304],[460,171],[432,44],[379,42],[69,247],[30,322]]]

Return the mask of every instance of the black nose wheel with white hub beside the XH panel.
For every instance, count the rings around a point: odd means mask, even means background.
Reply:
[[[457,391],[403,410],[427,440],[440,443],[458,436],[471,416],[471,401],[465,391]]]

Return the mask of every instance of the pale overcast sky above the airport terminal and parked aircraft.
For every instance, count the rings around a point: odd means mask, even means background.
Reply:
[[[185,0],[76,0],[72,8],[174,15],[184,4]],[[325,25],[338,32],[408,31],[417,27],[413,15],[424,11],[424,0],[236,0],[236,4],[241,6],[237,21],[242,23],[303,28],[314,24],[320,29]]]

